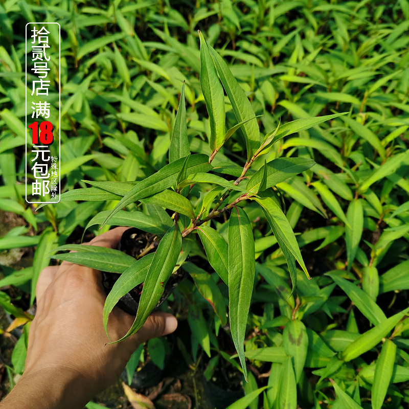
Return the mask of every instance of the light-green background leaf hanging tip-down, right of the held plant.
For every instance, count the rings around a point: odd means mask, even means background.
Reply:
[[[345,242],[347,244],[347,260],[348,271],[352,267],[355,260],[356,252],[358,251],[359,242],[362,237],[363,230],[363,208],[359,199],[352,200],[348,206],[347,220],[351,228],[345,230]]]

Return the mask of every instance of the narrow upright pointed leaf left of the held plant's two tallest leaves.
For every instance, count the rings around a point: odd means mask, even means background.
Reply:
[[[177,161],[190,153],[188,140],[188,126],[186,124],[186,101],[185,82],[180,94],[179,108],[173,125],[172,137],[170,138],[169,163]]]

